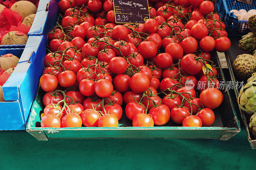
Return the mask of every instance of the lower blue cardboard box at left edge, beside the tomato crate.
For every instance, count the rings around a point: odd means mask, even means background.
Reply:
[[[32,38],[34,37],[34,38]],[[44,67],[45,36],[31,36],[23,53],[17,56],[19,62],[14,72],[3,85],[5,102],[0,102],[0,130],[25,130],[29,112],[38,88],[39,78]],[[9,51],[8,51],[9,50]],[[11,53],[13,49],[0,50],[0,53]],[[28,59],[28,60],[26,60]]]

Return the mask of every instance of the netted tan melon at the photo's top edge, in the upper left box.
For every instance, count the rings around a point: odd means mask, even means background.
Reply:
[[[10,9],[18,12],[23,19],[37,11],[36,6],[29,1],[15,2]]]

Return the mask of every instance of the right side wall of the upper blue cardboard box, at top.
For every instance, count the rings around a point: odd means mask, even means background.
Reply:
[[[28,35],[47,35],[56,23],[57,14],[58,3],[56,0],[40,0]]]

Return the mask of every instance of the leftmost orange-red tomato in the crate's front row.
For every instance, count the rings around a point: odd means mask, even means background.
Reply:
[[[60,118],[51,114],[44,115],[41,120],[41,127],[53,127],[53,128],[60,128],[61,121]]]

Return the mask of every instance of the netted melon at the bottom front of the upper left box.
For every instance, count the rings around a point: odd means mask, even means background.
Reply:
[[[1,45],[27,44],[28,36],[19,31],[11,31],[4,35]]]

